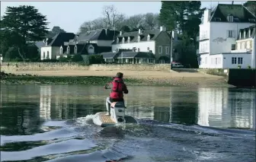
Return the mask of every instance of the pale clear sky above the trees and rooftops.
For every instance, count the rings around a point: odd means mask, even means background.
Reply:
[[[210,8],[218,3],[231,4],[232,2],[201,2],[202,8]],[[242,2],[234,2],[242,4]],[[49,28],[59,26],[66,32],[76,33],[85,21],[92,21],[102,15],[104,5],[114,5],[117,11],[132,16],[148,12],[159,13],[161,2],[1,2],[1,17],[7,6],[33,5],[38,11],[46,15],[50,22]]]

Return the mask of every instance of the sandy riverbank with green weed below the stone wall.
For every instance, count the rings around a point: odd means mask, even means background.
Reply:
[[[2,84],[84,84],[104,85],[117,71],[8,71]],[[221,76],[199,72],[122,71],[127,85],[231,87]]]

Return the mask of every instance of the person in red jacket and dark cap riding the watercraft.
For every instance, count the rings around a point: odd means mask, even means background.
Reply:
[[[110,103],[113,102],[124,102],[123,94],[128,94],[128,90],[126,84],[123,82],[123,73],[117,72],[117,76],[114,77],[114,80],[104,86],[105,89],[110,89],[111,86],[111,93],[110,97],[107,97],[106,106],[107,106],[107,115],[110,115]]]

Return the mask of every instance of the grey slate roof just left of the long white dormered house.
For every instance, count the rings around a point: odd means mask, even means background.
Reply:
[[[78,42],[85,42],[88,40],[114,40],[114,37],[119,34],[117,30],[91,30],[87,31],[86,33],[82,33],[77,38]]]

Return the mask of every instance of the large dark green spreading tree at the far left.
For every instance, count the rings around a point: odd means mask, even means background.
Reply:
[[[2,52],[10,47],[18,49],[21,59],[27,58],[27,43],[43,38],[48,33],[46,16],[30,5],[8,6],[1,21]],[[30,58],[27,58],[30,59]]]

